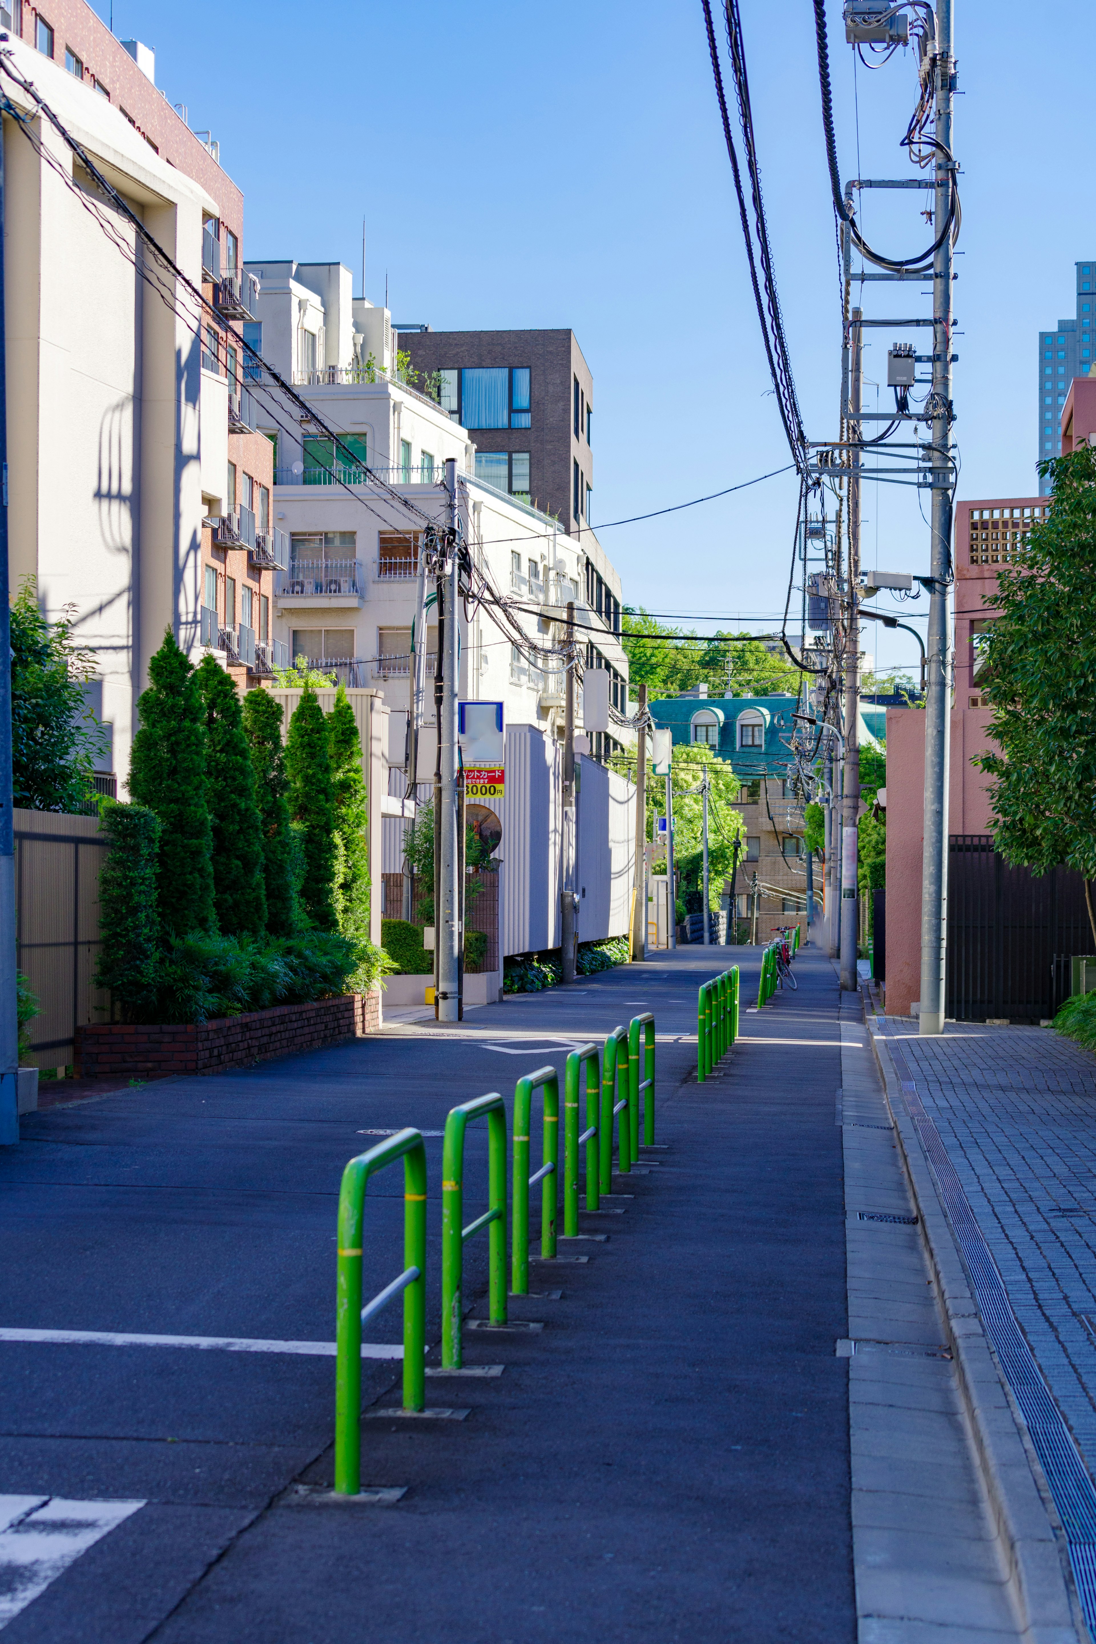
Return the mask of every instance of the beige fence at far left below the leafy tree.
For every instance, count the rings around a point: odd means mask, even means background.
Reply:
[[[110,1019],[110,995],[92,986],[107,848],[99,817],[15,812],[16,963],[41,1006],[25,1067],[66,1067],[77,1026]]]

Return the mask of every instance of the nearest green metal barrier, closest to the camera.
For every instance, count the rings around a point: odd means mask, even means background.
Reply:
[[[404,1162],[404,1271],[361,1305],[365,1189],[385,1166]],[[335,1300],[335,1489],[361,1486],[361,1325],[394,1295],[403,1302],[403,1402],[426,1406],[426,1148],[417,1129],[403,1129],[352,1159],[338,1189],[338,1281]]]

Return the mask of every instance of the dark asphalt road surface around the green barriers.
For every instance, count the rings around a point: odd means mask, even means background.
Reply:
[[[730,957],[743,1037],[697,1085],[697,983]],[[5,1644],[851,1644],[838,993],[812,950],[795,968],[797,993],[748,1014],[758,954],[685,949],[457,1028],[26,1120],[0,1156],[3,1327],[332,1342],[338,1179],[371,1131],[440,1133],[454,1103],[509,1098],[641,1009],[659,1032],[664,1149],[615,1182],[623,1213],[583,1212],[608,1241],[560,1253],[587,1263],[532,1269],[562,1297],[511,1309],[544,1332],[468,1332],[465,1361],[504,1373],[427,1383],[467,1420],[363,1422],[363,1485],[406,1486],[396,1506],[279,1499],[332,1480],[330,1356],[0,1340],[0,1489],[143,1503],[13,1613]],[[467,1157],[472,1217],[485,1128]],[[427,1159],[435,1343],[440,1134]],[[401,1172],[378,1177],[366,1295],[403,1266],[401,1203]],[[486,1317],[486,1241],[465,1254]],[[366,1337],[399,1342],[398,1302]],[[399,1402],[398,1363],[363,1363],[378,1402]],[[0,1582],[0,1621],[3,1603]]]

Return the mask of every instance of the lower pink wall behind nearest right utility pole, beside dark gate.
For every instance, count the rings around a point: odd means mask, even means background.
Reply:
[[[988,778],[971,760],[991,746],[986,709],[951,712],[948,834],[988,834]],[[925,713],[887,709],[887,1016],[920,998],[920,875],[925,815]]]

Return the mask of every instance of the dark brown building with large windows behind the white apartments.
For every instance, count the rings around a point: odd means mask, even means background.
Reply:
[[[477,475],[569,533],[590,520],[593,378],[573,330],[394,327],[442,406],[477,446]]]

